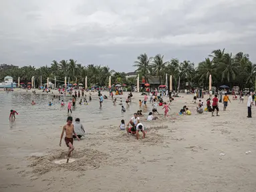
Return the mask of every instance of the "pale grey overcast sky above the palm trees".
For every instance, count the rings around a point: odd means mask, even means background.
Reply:
[[[223,48],[256,63],[255,10],[255,0],[0,0],[0,63],[130,72],[140,53],[199,63]]]

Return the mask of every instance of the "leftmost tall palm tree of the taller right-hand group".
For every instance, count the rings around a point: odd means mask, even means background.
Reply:
[[[150,77],[150,61],[151,59],[148,58],[148,55],[146,53],[140,54],[137,57],[137,61],[134,61],[134,67],[137,67],[136,71],[137,73],[140,73],[142,77],[146,79],[148,82],[148,77]]]

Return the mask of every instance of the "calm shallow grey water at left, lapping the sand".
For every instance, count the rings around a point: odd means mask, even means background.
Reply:
[[[96,133],[102,126],[118,127],[121,119],[127,121],[132,117],[132,114],[137,111],[138,103],[134,100],[130,107],[126,107],[124,103],[126,113],[122,113],[121,106],[118,105],[120,97],[116,98],[118,99],[116,106],[113,106],[112,99],[105,99],[102,109],[99,106],[98,95],[92,95],[92,101],[88,105],[80,105],[78,98],[76,107],[72,110],[72,117],[74,120],[77,117],[80,118],[87,134]],[[123,95],[122,101],[125,101],[125,98],[126,96]],[[64,107],[61,107],[61,101],[53,98],[53,94],[50,93],[32,95],[19,91],[11,93],[1,91],[0,125],[5,147],[7,147],[5,149],[13,152],[14,156],[25,156],[43,153],[43,149],[51,149],[50,145],[58,144],[61,127],[66,124],[68,117],[67,106],[71,97],[61,96],[62,99],[66,103]],[[35,101],[35,105],[31,105],[32,100]],[[52,106],[48,106],[49,101],[53,102]],[[15,121],[9,120],[11,109],[19,113]]]

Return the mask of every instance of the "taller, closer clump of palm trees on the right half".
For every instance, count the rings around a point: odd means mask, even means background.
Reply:
[[[150,77],[158,76],[159,82],[165,82],[165,75],[172,75],[172,87],[178,86],[180,78],[180,87],[209,88],[209,76],[212,75],[212,86],[219,87],[228,85],[229,87],[239,86],[241,89],[252,88],[255,83],[256,65],[253,64],[248,54],[242,52],[232,55],[226,53],[225,49],[214,50],[204,61],[195,64],[190,61],[180,62],[178,59],[164,61],[164,55],[148,57],[146,53],[137,57],[134,62],[136,72],[146,81]],[[168,76],[169,77],[169,76]]]

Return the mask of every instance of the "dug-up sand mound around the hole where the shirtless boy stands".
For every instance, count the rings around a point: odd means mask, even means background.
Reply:
[[[69,171],[86,171],[88,169],[98,169],[108,159],[106,153],[93,149],[76,149],[70,158],[70,163],[66,162],[67,151],[52,151],[49,155],[28,157],[32,163],[28,167],[33,167],[32,173],[43,175],[55,169],[67,169]]]

